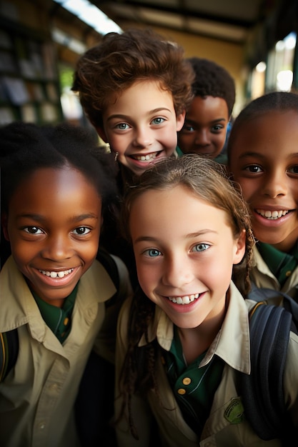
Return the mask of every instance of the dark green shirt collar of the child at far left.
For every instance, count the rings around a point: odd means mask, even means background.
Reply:
[[[39,311],[46,326],[49,326],[61,344],[66,340],[67,336],[69,336],[71,330],[71,313],[74,309],[78,287],[79,283],[76,284],[76,287],[71,294],[64,299],[61,308],[46,303],[46,301],[39,298],[34,291],[31,291],[37,306],[39,306]]]

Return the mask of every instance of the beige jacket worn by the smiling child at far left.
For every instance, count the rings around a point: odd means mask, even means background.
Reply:
[[[125,297],[130,292],[128,273],[124,263],[116,261]],[[1,447],[79,446],[74,401],[86,360],[106,320],[105,301],[115,292],[103,266],[94,261],[79,282],[71,332],[61,345],[41,318],[13,258],[6,261],[0,273],[0,331],[18,328],[19,356],[0,383]],[[115,336],[116,321],[111,321],[113,325]],[[101,336],[98,351],[104,353],[103,344]]]

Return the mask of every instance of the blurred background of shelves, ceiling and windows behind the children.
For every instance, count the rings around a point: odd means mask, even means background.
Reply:
[[[70,90],[77,59],[109,31],[148,27],[229,71],[234,116],[298,92],[298,0],[0,0],[0,125],[89,126]]]

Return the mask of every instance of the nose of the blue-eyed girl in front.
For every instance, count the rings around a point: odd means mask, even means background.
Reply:
[[[182,288],[192,282],[194,273],[187,256],[171,256],[164,263],[162,282],[166,286]]]

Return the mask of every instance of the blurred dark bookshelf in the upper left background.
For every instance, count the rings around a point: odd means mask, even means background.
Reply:
[[[63,121],[56,67],[49,36],[0,17],[0,126]]]

